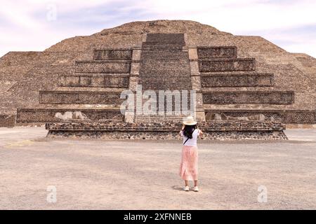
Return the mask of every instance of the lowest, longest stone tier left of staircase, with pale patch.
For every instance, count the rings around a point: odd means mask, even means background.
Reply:
[[[18,123],[49,123],[63,120],[116,120],[124,121],[124,115],[119,109],[65,109],[65,108],[33,108],[18,109]]]

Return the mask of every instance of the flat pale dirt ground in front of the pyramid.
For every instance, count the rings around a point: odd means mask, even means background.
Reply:
[[[0,128],[0,209],[316,209],[316,130],[288,130],[291,141],[200,141],[199,193],[183,191],[179,141],[45,135]]]

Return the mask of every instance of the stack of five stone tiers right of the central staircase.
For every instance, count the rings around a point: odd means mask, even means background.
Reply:
[[[315,124],[315,111],[292,109],[298,97],[292,87],[280,90],[274,73],[257,71],[253,58],[237,58],[237,48],[197,47],[197,52],[206,121],[264,117],[287,124]]]

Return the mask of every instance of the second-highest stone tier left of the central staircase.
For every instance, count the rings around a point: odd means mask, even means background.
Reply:
[[[130,60],[76,61],[76,73],[130,73]]]

